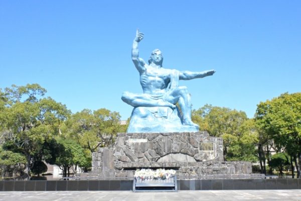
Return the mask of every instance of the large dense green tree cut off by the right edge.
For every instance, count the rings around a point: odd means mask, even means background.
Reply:
[[[284,149],[300,177],[301,163],[301,93],[283,93],[257,105],[258,128],[271,139],[276,151]],[[292,173],[293,173],[293,167]]]

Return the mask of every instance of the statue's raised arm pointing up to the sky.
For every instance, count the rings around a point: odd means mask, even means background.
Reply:
[[[143,39],[144,34],[139,32],[137,29],[136,31],[136,37],[133,41],[132,46],[132,61],[137,68],[137,70],[142,73],[145,70],[145,61],[141,58],[139,58],[139,50],[138,50],[138,43]]]

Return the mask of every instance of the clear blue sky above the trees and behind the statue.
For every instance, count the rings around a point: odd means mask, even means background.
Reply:
[[[193,108],[246,112],[301,91],[301,1],[0,1],[0,88],[39,83],[73,113],[107,108],[130,116],[123,91],[141,93],[131,61],[159,48],[163,66],[215,69],[180,81]]]

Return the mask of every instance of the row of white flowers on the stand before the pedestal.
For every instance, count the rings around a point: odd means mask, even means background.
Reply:
[[[174,176],[176,171],[173,169],[137,169],[135,172],[135,178],[137,180],[153,180],[153,179],[169,179],[171,176]]]

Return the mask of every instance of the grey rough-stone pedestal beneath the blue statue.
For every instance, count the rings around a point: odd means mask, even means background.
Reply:
[[[252,173],[250,162],[223,161],[222,139],[207,132],[119,133],[112,149],[93,153],[92,172],[105,177],[132,177],[141,168],[198,177]]]

